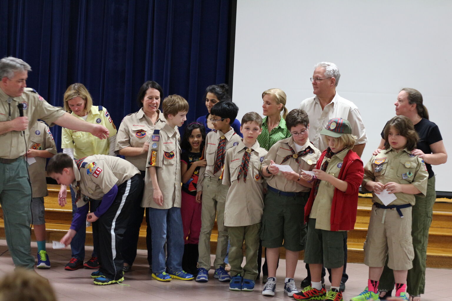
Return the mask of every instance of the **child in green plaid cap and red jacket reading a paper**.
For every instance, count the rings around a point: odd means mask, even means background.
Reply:
[[[305,263],[311,270],[311,285],[294,294],[295,300],[342,301],[339,291],[344,269],[343,241],[353,230],[358,207],[358,190],[363,181],[363,161],[353,152],[356,137],[348,120],[333,118],[320,134],[328,148],[317,161],[314,175],[301,176],[313,183],[305,206]],[[322,265],[331,269],[331,289],[321,284]]]

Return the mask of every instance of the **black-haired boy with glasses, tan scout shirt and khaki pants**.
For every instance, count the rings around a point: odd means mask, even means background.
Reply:
[[[231,277],[225,271],[228,235],[223,225],[226,195],[229,187],[221,184],[221,169],[223,168],[226,150],[233,145],[238,145],[240,136],[231,128],[232,122],[237,117],[239,108],[234,102],[218,102],[212,107],[211,121],[215,130],[209,132],[204,146],[206,167],[201,167],[198,178],[196,199],[201,202],[201,232],[199,234],[199,258],[197,282],[209,280],[208,271],[210,262],[210,235],[212,234],[215,217],[217,217],[217,252],[213,262],[215,273],[213,278],[221,282],[230,281]]]

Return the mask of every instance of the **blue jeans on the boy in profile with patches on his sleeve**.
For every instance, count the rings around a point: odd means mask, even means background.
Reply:
[[[154,274],[182,271],[184,255],[184,229],[180,208],[149,208],[152,229],[152,271]],[[165,260],[165,241],[167,257]]]

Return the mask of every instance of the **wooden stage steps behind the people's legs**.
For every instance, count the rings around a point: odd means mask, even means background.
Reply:
[[[59,241],[69,229],[72,220],[71,194],[68,190],[65,207],[58,205],[59,185],[47,185],[49,195],[45,197],[46,207],[46,231],[47,241]],[[358,213],[355,229],[348,232],[348,262],[362,263],[364,260],[363,244],[367,235],[372,208],[370,194],[360,194],[358,200]],[[0,238],[5,238],[2,211],[0,208]],[[92,233],[92,227],[88,227],[86,232]],[[211,252],[215,254],[217,248],[217,224],[215,223],[211,236]],[[35,240],[32,231],[32,240]],[[93,244],[93,236],[86,236],[86,244]],[[431,268],[452,268],[452,203],[437,202],[433,206],[432,225],[429,229],[427,266]],[[146,249],[146,221],[143,218],[138,241],[138,249]],[[300,259],[303,259],[304,252],[300,252]],[[280,250],[281,258],[285,258],[283,248]]]

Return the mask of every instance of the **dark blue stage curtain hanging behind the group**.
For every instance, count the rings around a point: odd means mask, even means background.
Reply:
[[[226,82],[229,0],[1,0],[0,57],[31,65],[28,87],[54,106],[83,83],[119,126],[155,80],[207,114],[208,85]],[[61,147],[61,129],[53,127]],[[181,133],[182,134],[182,133]]]

